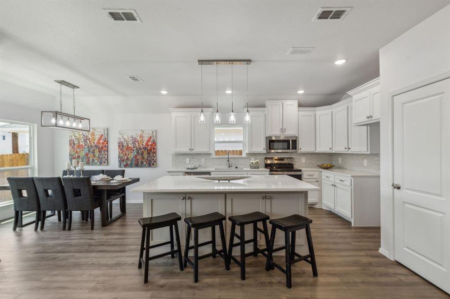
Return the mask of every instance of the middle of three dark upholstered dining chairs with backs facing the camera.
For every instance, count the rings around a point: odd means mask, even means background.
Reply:
[[[67,219],[67,199],[60,177],[34,177],[34,184],[39,196],[41,210],[40,230],[44,229],[46,211],[57,211],[58,221],[61,220],[62,230],[65,230]]]

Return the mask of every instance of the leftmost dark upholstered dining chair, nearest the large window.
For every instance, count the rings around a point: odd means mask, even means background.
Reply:
[[[37,231],[40,219],[39,198],[36,186],[32,177],[8,177],[8,184],[11,188],[12,202],[14,206],[14,223],[12,230],[17,229],[17,225],[22,218],[24,211],[35,211],[36,220],[34,222],[34,231]]]

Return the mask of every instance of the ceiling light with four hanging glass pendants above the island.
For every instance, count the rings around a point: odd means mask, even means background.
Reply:
[[[201,110],[199,114],[199,123],[205,123],[205,115],[203,112],[203,65],[215,65],[216,66],[216,112],[214,113],[213,121],[214,124],[220,124],[220,112],[219,112],[219,96],[218,96],[218,66],[219,65],[230,65],[231,66],[231,112],[229,113],[228,123],[236,124],[236,113],[233,109],[233,65],[245,65],[246,66],[246,76],[247,76],[247,111],[245,113],[244,121],[246,124],[250,123],[250,113],[248,111],[248,65],[252,63],[250,59],[199,59],[198,65],[201,66],[201,81],[202,81],[202,94],[201,94]]]

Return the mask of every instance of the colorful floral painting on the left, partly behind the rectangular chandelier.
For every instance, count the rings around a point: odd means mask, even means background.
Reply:
[[[108,129],[91,128],[89,132],[72,131],[69,136],[69,161],[85,165],[108,165]]]

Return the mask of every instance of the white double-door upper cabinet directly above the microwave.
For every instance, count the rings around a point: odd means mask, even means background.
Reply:
[[[298,101],[266,101],[267,135],[297,135]]]

